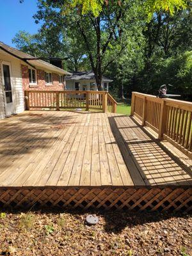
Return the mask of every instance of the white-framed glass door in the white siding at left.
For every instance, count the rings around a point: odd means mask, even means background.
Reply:
[[[5,115],[10,116],[14,113],[11,65],[10,63],[5,61],[3,61],[2,63],[2,77],[3,77]]]

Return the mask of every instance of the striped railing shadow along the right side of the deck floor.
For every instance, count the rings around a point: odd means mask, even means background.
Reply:
[[[109,124],[127,168],[131,172],[132,159],[134,172],[138,171],[136,179],[141,176],[146,186],[192,185],[191,168],[163,147],[134,118],[109,116]]]

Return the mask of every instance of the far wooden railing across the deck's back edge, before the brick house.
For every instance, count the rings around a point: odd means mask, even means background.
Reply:
[[[116,112],[116,101],[104,91],[39,91],[26,90],[26,110],[29,109],[99,109]]]

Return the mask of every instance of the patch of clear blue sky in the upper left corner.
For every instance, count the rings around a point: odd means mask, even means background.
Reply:
[[[36,0],[0,0],[0,41],[12,44],[12,38],[19,30],[36,33],[40,24],[35,24]]]

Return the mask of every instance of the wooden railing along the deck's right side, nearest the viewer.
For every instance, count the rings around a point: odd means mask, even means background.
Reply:
[[[132,92],[131,115],[192,157],[192,102]]]

